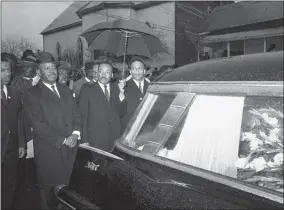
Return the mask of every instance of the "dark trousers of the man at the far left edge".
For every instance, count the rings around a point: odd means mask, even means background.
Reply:
[[[17,154],[7,155],[1,164],[1,209],[11,209],[17,191]]]

